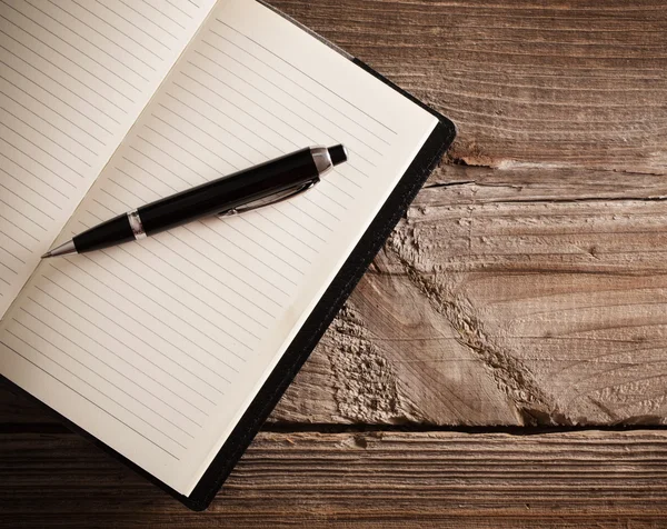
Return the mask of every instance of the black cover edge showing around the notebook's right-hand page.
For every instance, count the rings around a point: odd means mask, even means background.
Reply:
[[[222,483],[229,477],[250,442],[252,442],[252,439],[282,397],[282,393],[285,393],[299,369],[301,369],[301,366],[306,362],[311,351],[315,349],[320,338],[366,272],[375,256],[381,250],[385,241],[391,234],[391,230],[394,230],[400,218],[406,213],[409,204],[412,202],[431,171],[437,167],[456,136],[456,128],[447,118],[418,101],[405,90],[398,88],[362,61],[358,59],[351,60],[359,68],[362,68],[368,73],[378,78],[419,107],[434,114],[438,119],[438,124],[415,160],[412,160],[412,163],[391,192],[389,199],[385,202],[380,212],[364,233],[315,310],[310,313],[306,323],[276,366],[276,369],[271,372],[261,390],[255,397],[255,400],[248,407],[246,413],[237,423],[236,428],[190,496],[183,496],[177,492],[122,455],[118,453],[111,447],[104,445],[102,441],[69,421],[60,413],[57,413],[40,400],[33,398],[30,393],[0,375],[0,380],[8,383],[12,391],[24,395],[31,400],[37,401],[51,413],[58,416],[60,421],[67,425],[68,428],[92,441],[106,452],[120,459],[128,467],[152,481],[192,510],[205,510],[213,500],[217,492],[222,487]]]

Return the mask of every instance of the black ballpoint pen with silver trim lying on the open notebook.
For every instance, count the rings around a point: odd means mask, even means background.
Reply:
[[[347,161],[344,146],[311,147],[166,197],[102,222],[48,251],[68,256],[121,244],[212,214],[237,214],[295,197]]]

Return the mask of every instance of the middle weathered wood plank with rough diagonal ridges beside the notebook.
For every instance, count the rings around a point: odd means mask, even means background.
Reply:
[[[480,183],[422,190],[273,420],[664,422],[666,203],[461,169]],[[50,420],[0,391],[0,422]]]

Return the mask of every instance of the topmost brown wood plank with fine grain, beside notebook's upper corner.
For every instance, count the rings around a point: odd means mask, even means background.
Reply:
[[[452,118],[452,156],[667,172],[660,1],[276,0]]]

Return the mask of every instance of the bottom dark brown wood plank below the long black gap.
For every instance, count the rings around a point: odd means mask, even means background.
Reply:
[[[77,436],[0,436],[0,527],[658,527],[665,432],[261,433],[208,512]]]

